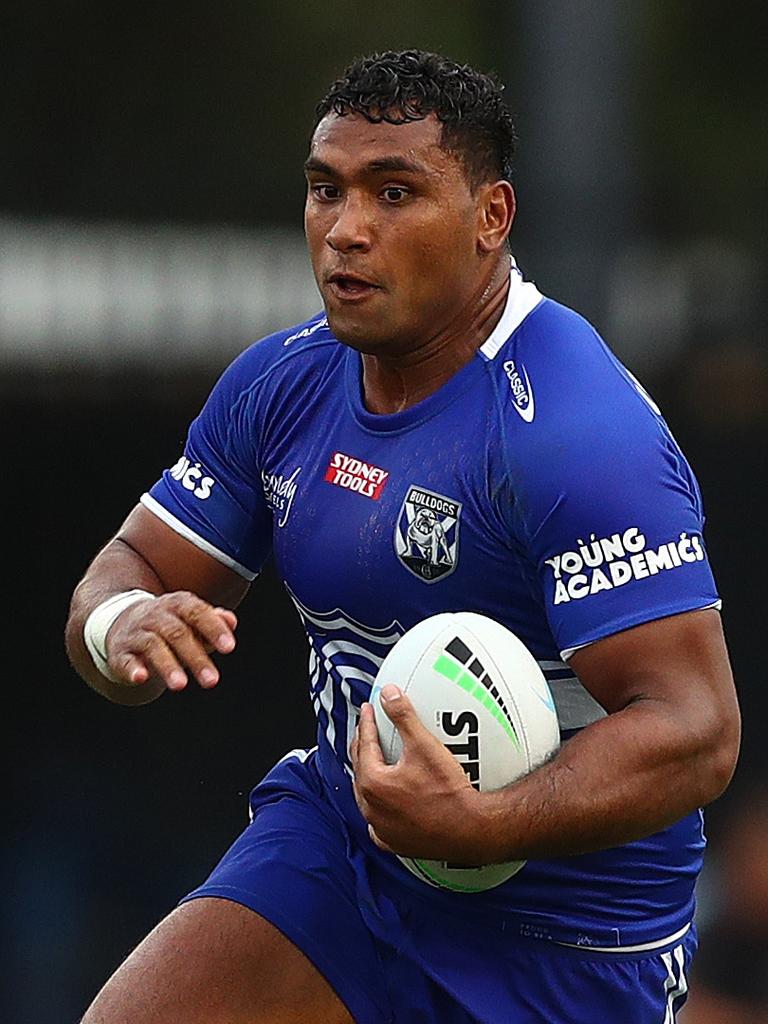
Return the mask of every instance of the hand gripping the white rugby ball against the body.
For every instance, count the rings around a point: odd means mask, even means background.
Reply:
[[[387,684],[382,708],[397,728],[402,755],[388,765],[379,743],[374,710],[360,709],[352,741],[354,796],[374,843],[390,853],[483,862],[481,798],[449,750],[419,721],[413,703]],[[484,862],[488,863],[487,851]]]

